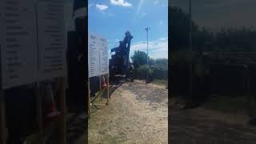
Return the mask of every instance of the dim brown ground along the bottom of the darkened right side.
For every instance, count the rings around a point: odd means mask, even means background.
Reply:
[[[175,99],[170,99],[173,106]],[[170,143],[254,144],[256,126],[248,124],[246,114],[229,114],[202,107],[191,110],[171,108]]]

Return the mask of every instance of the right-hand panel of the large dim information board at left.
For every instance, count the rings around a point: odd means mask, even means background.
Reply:
[[[66,76],[64,0],[38,0],[39,80]]]

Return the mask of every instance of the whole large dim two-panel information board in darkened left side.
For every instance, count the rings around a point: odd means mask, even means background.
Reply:
[[[0,1],[1,88],[66,76],[64,0]]]

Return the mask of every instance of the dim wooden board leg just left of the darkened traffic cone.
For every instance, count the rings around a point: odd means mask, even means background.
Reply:
[[[42,90],[40,89],[40,83],[35,83],[35,94],[37,101],[37,116],[38,116],[38,132],[39,138],[43,139],[43,122],[42,122]],[[39,144],[43,144],[44,142],[41,140],[38,142]]]

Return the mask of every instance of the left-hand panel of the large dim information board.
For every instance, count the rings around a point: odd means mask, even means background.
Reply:
[[[34,0],[0,1],[2,89],[34,82],[37,38]]]

